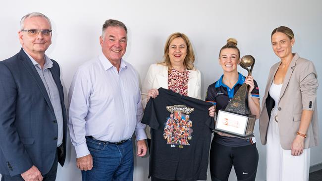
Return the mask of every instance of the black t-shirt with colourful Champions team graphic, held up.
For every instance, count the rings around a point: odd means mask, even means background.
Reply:
[[[159,89],[150,98],[142,123],[151,127],[150,171],[164,180],[207,180],[214,118],[212,103]]]

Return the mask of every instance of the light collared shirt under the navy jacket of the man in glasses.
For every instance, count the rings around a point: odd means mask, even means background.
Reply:
[[[25,50],[24,50],[25,51]],[[58,126],[58,137],[57,137],[57,147],[62,144],[63,138],[63,117],[62,117],[62,109],[61,109],[61,102],[59,97],[59,91],[57,88],[56,83],[54,82],[54,78],[50,68],[53,67],[53,61],[45,55],[45,64],[43,69],[39,65],[39,63],[31,57],[26,51],[25,53],[28,55],[32,63],[34,64],[43,84],[47,90],[49,99],[51,100],[52,106],[54,108],[54,114],[57,120]]]

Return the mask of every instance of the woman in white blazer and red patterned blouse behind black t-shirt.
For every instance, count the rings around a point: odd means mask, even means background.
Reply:
[[[201,99],[201,76],[194,68],[195,54],[188,37],[183,33],[171,34],[165,45],[161,63],[152,64],[142,86],[142,105],[145,108],[149,99],[158,96],[159,88]],[[215,116],[214,106],[209,115]],[[147,126],[148,144],[150,128]],[[150,147],[150,146],[149,146]],[[160,181],[152,177],[152,181]]]

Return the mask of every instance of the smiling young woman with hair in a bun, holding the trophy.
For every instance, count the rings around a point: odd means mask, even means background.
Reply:
[[[252,76],[244,77],[237,71],[240,52],[235,39],[228,39],[220,49],[219,65],[223,75],[210,85],[206,101],[215,105],[218,110],[225,109],[229,101],[242,84],[249,85],[248,105],[252,114],[260,115],[259,89]],[[215,133],[210,150],[210,171],[212,181],[228,181],[232,166],[238,180],[255,181],[258,165],[256,139],[242,139],[222,133]]]

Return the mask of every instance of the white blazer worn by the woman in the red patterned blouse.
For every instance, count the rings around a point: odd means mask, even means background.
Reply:
[[[197,69],[189,70],[188,96],[201,99],[201,76]],[[168,67],[161,64],[152,64],[142,86],[142,106],[145,109],[150,89],[168,89]],[[150,136],[150,128],[147,126],[147,136]]]

